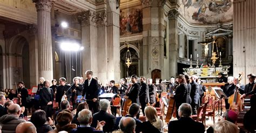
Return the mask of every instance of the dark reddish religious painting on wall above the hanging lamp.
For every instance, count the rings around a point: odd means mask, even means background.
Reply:
[[[140,33],[142,27],[141,6],[120,10],[120,35]]]

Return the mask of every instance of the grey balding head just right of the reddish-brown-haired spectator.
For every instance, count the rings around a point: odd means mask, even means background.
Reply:
[[[83,109],[78,113],[78,118],[80,124],[82,125],[88,125],[92,122],[92,113],[89,109]]]

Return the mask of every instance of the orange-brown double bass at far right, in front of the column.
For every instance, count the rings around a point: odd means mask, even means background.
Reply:
[[[238,82],[240,82],[242,74],[239,73]],[[239,85],[239,84],[238,84]],[[230,109],[236,112],[240,112],[242,110],[242,100],[240,99],[241,94],[238,91],[238,86],[235,87],[234,94],[232,94],[228,98],[228,104],[230,104]]]

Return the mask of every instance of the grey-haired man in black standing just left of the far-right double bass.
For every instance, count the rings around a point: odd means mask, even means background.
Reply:
[[[223,92],[226,94],[227,97],[230,97],[232,94],[234,94],[235,91],[235,85],[233,83],[234,77],[230,76],[227,78],[227,83],[221,88],[223,89]],[[228,99],[225,99],[225,107],[226,109],[230,109],[230,104],[228,104]]]

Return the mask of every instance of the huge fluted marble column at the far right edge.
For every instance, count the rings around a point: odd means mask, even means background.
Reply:
[[[256,61],[254,53],[256,49],[256,1],[233,1],[233,74],[244,72],[256,74]],[[248,83],[243,78],[242,83]]]

